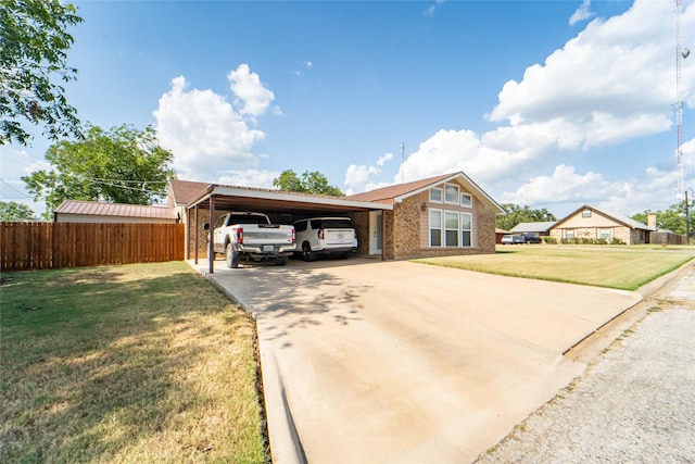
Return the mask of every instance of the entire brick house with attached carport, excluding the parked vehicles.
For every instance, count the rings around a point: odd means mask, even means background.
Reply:
[[[198,243],[204,252],[207,233],[202,225],[214,222],[211,210],[215,218],[224,211],[258,211],[283,224],[312,216],[349,216],[357,230],[357,253],[389,260],[494,253],[495,218],[504,214],[464,173],[349,197],[172,180],[169,205],[184,204],[190,250]]]

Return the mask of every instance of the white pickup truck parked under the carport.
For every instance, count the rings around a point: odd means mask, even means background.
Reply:
[[[212,240],[216,253],[226,253],[230,268],[238,267],[242,258],[275,260],[277,265],[283,266],[296,247],[294,227],[270,224],[263,213],[225,214],[215,223]]]

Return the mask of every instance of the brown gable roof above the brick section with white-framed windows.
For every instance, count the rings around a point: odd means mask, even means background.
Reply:
[[[452,180],[458,180],[471,191],[478,193],[479,198],[485,200],[493,209],[497,210],[497,214],[504,214],[504,209],[494,201],[488,193],[485,193],[478,185],[472,181],[463,172],[442,174],[434,177],[428,177],[426,179],[414,180],[405,184],[392,185],[389,187],[379,188],[376,190],[366,191],[364,193],[351,195],[346,198],[351,200],[359,201],[378,201],[381,203],[400,203],[408,197],[418,195],[425,190],[429,190],[438,185],[448,183]]]

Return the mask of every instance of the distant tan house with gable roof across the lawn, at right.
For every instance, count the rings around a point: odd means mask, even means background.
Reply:
[[[655,227],[602,209],[583,205],[558,221],[551,228],[551,237],[563,239],[620,240],[626,244],[649,243]]]

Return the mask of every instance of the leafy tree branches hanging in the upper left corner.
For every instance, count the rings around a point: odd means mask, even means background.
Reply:
[[[83,18],[60,0],[0,0],[0,146],[26,146],[27,122],[43,124],[51,140],[79,138],[77,110],[53,78],[76,78],[77,70],[66,64],[74,42],[66,29]]]

